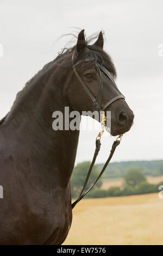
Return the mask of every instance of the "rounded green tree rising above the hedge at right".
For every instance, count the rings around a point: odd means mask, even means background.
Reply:
[[[146,177],[141,173],[140,169],[129,169],[124,177],[126,184],[132,187],[136,187],[141,182],[146,181]]]

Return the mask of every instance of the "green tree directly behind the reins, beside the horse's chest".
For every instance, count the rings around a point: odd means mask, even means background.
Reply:
[[[73,174],[71,176],[71,194],[73,198],[78,197],[79,193],[82,191],[87,172],[90,168],[90,164],[91,162],[82,162],[82,163],[78,163],[77,166],[74,168]],[[90,179],[87,182],[86,189],[89,188],[95,182],[98,174],[99,172],[98,172],[97,166],[94,166],[92,169],[92,173],[90,175]],[[96,188],[101,187],[101,185],[102,185],[102,180],[100,179],[96,183],[95,187]]]

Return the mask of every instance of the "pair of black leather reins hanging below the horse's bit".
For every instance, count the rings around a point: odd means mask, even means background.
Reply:
[[[91,163],[89,172],[87,173],[87,176],[86,176],[86,179],[85,179],[85,183],[84,183],[84,186],[83,186],[83,190],[82,190],[82,192],[80,193],[79,198],[78,198],[75,202],[73,202],[73,204],[71,205],[72,209],[74,208],[74,206],[76,206],[76,204],[77,204],[80,200],[82,200],[82,198],[91,190],[91,188],[95,186],[95,184],[96,184],[96,182],[99,180],[99,178],[101,178],[101,176],[102,176],[104,170],[105,170],[106,167],[108,166],[108,164],[109,164],[109,162],[110,162],[110,160],[111,160],[111,158],[112,158],[112,156],[113,156],[113,154],[114,154],[114,152],[115,152],[116,147],[117,147],[119,144],[120,144],[120,140],[114,141],[114,143],[112,144],[112,148],[111,148],[111,150],[110,150],[110,155],[109,155],[109,157],[108,157],[108,160],[105,162],[104,167],[102,168],[101,173],[98,175],[98,177],[97,177],[96,181],[93,183],[93,185],[92,185],[85,193],[83,193],[84,190],[85,190],[85,187],[86,187],[86,185],[87,185],[87,182],[88,182],[88,180],[89,180],[89,176],[90,176],[90,174],[91,174],[93,165],[95,164],[96,157],[97,157],[98,152],[99,152],[100,147],[101,147],[100,140],[97,139],[97,141],[96,141],[96,150],[95,150],[95,154],[94,154],[94,156],[93,156],[93,160],[92,160],[92,163]]]

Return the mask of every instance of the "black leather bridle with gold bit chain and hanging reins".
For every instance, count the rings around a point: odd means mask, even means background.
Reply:
[[[120,142],[121,142],[121,139],[122,139],[122,135],[119,135],[116,139],[116,141],[114,141],[114,143],[112,144],[112,148],[110,150],[110,155],[108,157],[108,160],[105,162],[102,170],[101,170],[101,173],[99,173],[96,181],[91,185],[91,187],[84,192],[85,190],[85,187],[87,185],[87,182],[89,181],[89,177],[90,177],[90,174],[92,172],[92,168],[95,164],[95,161],[96,161],[96,158],[97,158],[97,155],[99,153],[99,150],[101,148],[101,142],[100,142],[100,139],[101,139],[101,136],[103,135],[103,132],[104,132],[104,127],[106,129],[106,131],[108,131],[108,128],[106,127],[106,117],[105,117],[105,109],[106,107],[110,106],[112,102],[118,100],[118,99],[125,99],[125,97],[123,96],[123,94],[118,90],[117,88],[117,85],[114,81],[114,78],[112,77],[112,75],[110,74],[110,72],[103,66],[103,65],[100,65],[98,63],[96,63],[96,69],[98,71],[98,74],[99,74],[99,89],[98,89],[98,93],[97,93],[97,96],[95,98],[95,96],[93,96],[93,94],[91,93],[90,89],[86,86],[86,84],[84,83],[84,81],[82,80],[82,78],[79,76],[77,70],[76,70],[76,66],[82,62],[87,62],[87,61],[91,61],[93,60],[92,58],[86,58],[85,60],[78,60],[78,62],[74,63],[73,62],[73,55],[74,53],[72,54],[72,67],[73,67],[73,71],[74,73],[76,74],[78,80],[80,81],[80,83],[82,84],[83,88],[85,89],[86,93],[89,95],[89,97],[91,98],[93,104],[95,104],[96,106],[96,109],[97,111],[103,111],[103,114],[102,114],[102,121],[101,121],[101,125],[102,125],[102,131],[98,133],[98,136],[96,138],[96,149],[95,149],[95,153],[94,153],[94,156],[93,156],[93,160],[91,162],[91,165],[90,165],[90,168],[89,168],[89,171],[87,173],[87,176],[86,176],[86,179],[85,179],[85,182],[84,182],[84,186],[83,186],[83,189],[82,189],[82,192],[80,192],[80,195],[79,195],[79,198],[74,201],[71,206],[72,206],[72,209],[74,208],[74,206],[76,206],[76,204],[82,200],[82,198],[91,190],[92,187],[95,186],[96,182],[99,180],[99,178],[101,178],[102,174],[104,173],[104,170],[106,169],[106,167],[108,166],[112,156],[114,155],[114,152],[115,152],[115,149],[118,145],[120,145]],[[120,92],[120,95],[117,95],[116,97],[114,97],[113,99],[111,99],[110,101],[108,101],[104,106],[102,106],[102,99],[103,99],[103,80],[102,80],[102,75],[104,75],[106,78],[109,79],[110,83],[112,84],[112,86],[114,86],[118,92]],[[98,103],[97,102],[97,97],[98,97],[98,94],[99,94],[99,91],[101,90],[101,102]]]

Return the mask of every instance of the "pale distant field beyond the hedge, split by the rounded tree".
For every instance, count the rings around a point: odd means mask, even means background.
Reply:
[[[158,184],[160,181],[163,181],[163,176],[156,176],[156,177],[148,177],[146,176],[147,181],[152,184]],[[124,179],[123,178],[112,178],[112,179],[106,179],[103,181],[102,188],[104,190],[107,190],[109,187],[112,186],[122,186]]]

